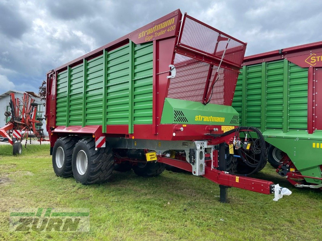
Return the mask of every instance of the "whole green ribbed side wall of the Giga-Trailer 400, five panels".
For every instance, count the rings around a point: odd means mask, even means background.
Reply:
[[[134,45],[133,50],[134,124],[152,124],[153,43]],[[103,101],[102,55],[88,60],[85,67],[80,64],[70,68],[69,99],[67,98],[67,70],[58,74],[57,126],[83,125],[84,114],[85,125],[102,125],[103,104],[107,107],[106,123],[108,125],[129,123],[129,52],[129,44],[107,52],[106,102]],[[84,68],[86,69],[85,78]],[[68,109],[69,123],[66,123]]]

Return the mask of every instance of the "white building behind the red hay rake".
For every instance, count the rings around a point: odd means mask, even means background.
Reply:
[[[21,92],[16,90],[9,90],[0,95],[0,128],[4,127],[8,119],[10,119],[10,117],[8,118],[5,117],[5,111],[10,111],[9,102],[10,102],[11,93],[14,93],[14,97],[19,98],[21,101],[23,100],[24,93],[28,93],[31,96],[31,98],[35,100],[35,103],[39,103],[37,117],[44,117],[45,107],[43,106],[41,97],[38,94],[35,94],[33,92],[28,92],[28,91]],[[46,130],[46,121],[43,120],[42,122],[43,122],[43,126],[41,128],[43,128],[43,134],[45,136],[48,136],[48,132]]]

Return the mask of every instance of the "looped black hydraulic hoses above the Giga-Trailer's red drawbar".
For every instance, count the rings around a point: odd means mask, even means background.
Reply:
[[[264,165],[264,163],[266,162],[266,158],[267,158],[266,144],[265,144],[265,140],[264,140],[264,137],[261,134],[261,132],[257,128],[254,128],[254,127],[241,126],[241,127],[237,127],[235,129],[229,130],[227,132],[224,132],[223,134],[208,134],[208,135],[213,136],[213,137],[223,137],[223,136],[227,136],[232,133],[235,133],[235,136],[237,137],[237,136],[239,136],[239,133],[243,132],[243,131],[247,131],[248,133],[249,133],[249,131],[256,132],[256,134],[260,140],[260,145],[261,145],[260,159],[259,159],[258,163],[255,163],[255,164],[248,162],[245,159],[245,157],[242,155],[242,150],[239,148],[239,149],[237,149],[237,152],[238,152],[239,156],[241,157],[242,161],[246,165],[248,165],[249,167],[254,168],[254,170],[248,174],[237,174],[237,173],[230,173],[230,174],[238,175],[238,176],[249,176],[249,175],[256,173],[257,170],[259,170],[261,168],[261,166]],[[245,152],[245,155],[249,156],[246,152]],[[252,158],[251,156],[249,156],[249,157],[255,161],[254,158]]]

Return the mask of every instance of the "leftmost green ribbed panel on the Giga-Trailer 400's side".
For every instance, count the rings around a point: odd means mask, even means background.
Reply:
[[[67,112],[67,70],[57,75],[57,99],[56,99],[56,125],[66,125]]]

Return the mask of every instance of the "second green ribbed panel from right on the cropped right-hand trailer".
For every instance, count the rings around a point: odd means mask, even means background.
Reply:
[[[266,128],[282,129],[284,61],[267,63]]]

